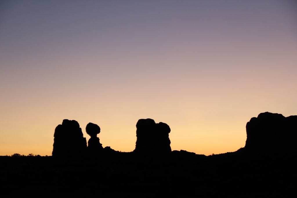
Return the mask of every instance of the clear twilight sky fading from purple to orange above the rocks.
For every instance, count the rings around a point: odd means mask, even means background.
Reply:
[[[0,155],[51,155],[63,119],[130,152],[138,119],[172,150],[244,147],[297,115],[297,1],[0,1]]]

